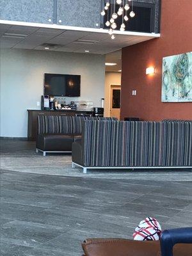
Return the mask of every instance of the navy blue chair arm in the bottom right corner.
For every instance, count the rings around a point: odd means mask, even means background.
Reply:
[[[160,243],[161,256],[173,256],[175,244],[192,244],[192,227],[164,230],[161,234]]]

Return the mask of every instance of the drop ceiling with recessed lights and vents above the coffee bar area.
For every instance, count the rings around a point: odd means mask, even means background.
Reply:
[[[55,26],[57,25],[54,25],[54,27]],[[85,50],[89,50],[90,53],[94,54],[106,54],[122,49],[122,47],[144,42],[145,40],[156,37],[153,35],[141,36],[141,33],[138,33],[138,35],[119,35],[118,33],[115,35],[115,40],[111,40],[111,36],[104,30],[100,32],[100,29],[95,29],[95,32],[93,32],[90,30],[76,31],[68,30],[66,27],[61,28],[62,26],[52,28],[52,25],[50,25],[49,28],[42,28],[38,27],[37,24],[36,26],[0,24],[0,36],[1,39],[3,39],[1,47],[45,50],[41,44],[58,44],[63,46],[54,49],[50,48],[50,51],[84,52]],[[4,35],[4,33],[27,36],[26,38],[3,38],[2,35]],[[76,42],[78,39],[95,40],[99,42],[95,42],[94,44],[82,44]]]

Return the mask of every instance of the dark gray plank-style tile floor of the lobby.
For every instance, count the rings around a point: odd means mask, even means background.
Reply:
[[[22,155],[27,163],[33,151],[33,143],[8,141],[2,156]],[[48,159],[54,156],[46,159],[47,167]],[[140,179],[133,172],[97,178],[97,173],[70,177],[6,168],[1,171],[1,255],[81,256],[83,239],[132,238],[146,216],[157,218],[163,229],[192,226],[191,172],[173,173],[169,180],[156,179],[155,170],[145,172],[145,179],[140,172]]]

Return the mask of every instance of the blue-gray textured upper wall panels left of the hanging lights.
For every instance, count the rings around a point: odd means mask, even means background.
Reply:
[[[0,19],[97,28],[100,0],[1,0]]]

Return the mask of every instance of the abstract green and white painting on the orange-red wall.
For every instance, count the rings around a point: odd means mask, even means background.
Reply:
[[[163,58],[162,102],[192,102],[192,52]]]

